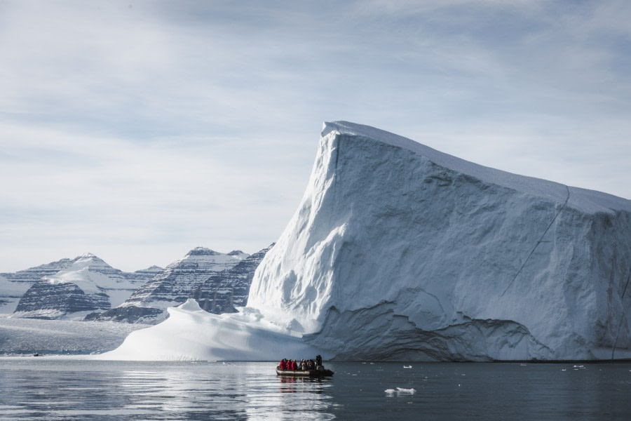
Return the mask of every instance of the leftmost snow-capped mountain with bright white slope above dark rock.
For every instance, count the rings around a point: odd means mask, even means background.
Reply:
[[[109,309],[121,304],[161,271],[159,267],[151,267],[133,273],[122,272],[91,253],[60,262],[63,262],[62,269],[44,275],[26,290],[13,317],[57,319],[72,313]]]

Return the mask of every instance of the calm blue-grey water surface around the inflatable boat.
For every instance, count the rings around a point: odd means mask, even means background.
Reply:
[[[629,363],[275,366],[0,359],[0,420],[631,420]]]

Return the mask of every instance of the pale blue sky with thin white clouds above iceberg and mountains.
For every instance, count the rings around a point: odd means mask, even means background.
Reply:
[[[631,198],[631,2],[0,0],[0,272],[255,253],[323,121]]]

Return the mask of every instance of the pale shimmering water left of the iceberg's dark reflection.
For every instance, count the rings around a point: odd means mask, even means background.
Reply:
[[[0,362],[0,418],[331,420],[326,381],[273,363]]]

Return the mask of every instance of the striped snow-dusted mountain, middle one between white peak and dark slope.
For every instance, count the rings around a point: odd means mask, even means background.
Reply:
[[[121,305],[89,314],[86,320],[158,323],[168,316],[167,307],[182,304],[212,274],[230,269],[248,256],[240,250],[224,254],[210,248],[194,248],[140,286]]]

